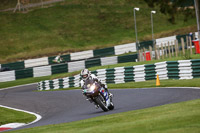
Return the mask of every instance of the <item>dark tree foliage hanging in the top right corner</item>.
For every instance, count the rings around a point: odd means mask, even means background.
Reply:
[[[175,23],[176,14],[181,12],[185,15],[185,21],[188,19],[188,14],[194,16],[191,11],[191,6],[194,6],[193,0],[144,0],[149,7],[160,7],[160,12],[170,15],[169,21]]]

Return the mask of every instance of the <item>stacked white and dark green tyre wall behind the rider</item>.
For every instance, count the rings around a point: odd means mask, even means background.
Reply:
[[[200,59],[165,61],[148,65],[116,67],[92,71],[103,83],[140,82],[156,79],[192,79],[200,78]],[[62,79],[46,80],[38,83],[38,90],[80,87],[80,75]]]

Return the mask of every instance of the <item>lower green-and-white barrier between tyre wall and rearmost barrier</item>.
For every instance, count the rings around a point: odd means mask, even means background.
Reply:
[[[133,54],[115,57],[104,57],[90,60],[81,60],[63,64],[39,66],[33,68],[25,68],[22,70],[0,72],[0,82],[14,81],[16,79],[23,79],[29,77],[50,76],[52,74],[64,72],[74,72],[94,66],[117,64],[121,62],[134,62],[136,59],[137,54]]]

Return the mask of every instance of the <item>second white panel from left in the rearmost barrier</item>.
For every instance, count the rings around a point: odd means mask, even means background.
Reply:
[[[94,57],[93,50],[83,51],[83,52],[76,52],[70,54],[71,60],[80,60],[80,59],[87,59]]]

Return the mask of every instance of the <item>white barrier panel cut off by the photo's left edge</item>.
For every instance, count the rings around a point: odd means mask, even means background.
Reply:
[[[14,81],[15,79],[15,71],[7,71],[0,73],[0,82]]]

